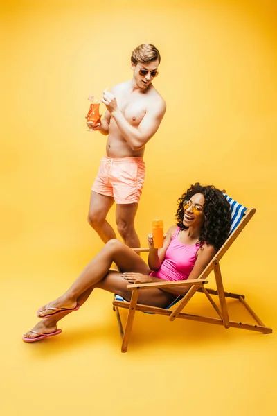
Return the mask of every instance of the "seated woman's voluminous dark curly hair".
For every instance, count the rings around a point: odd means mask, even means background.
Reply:
[[[183,193],[178,199],[179,207],[175,218],[177,225],[181,229],[188,229],[183,224],[184,209],[183,203],[185,200],[195,195],[195,193],[202,193],[205,198],[204,202],[204,225],[200,231],[199,242],[201,245],[206,242],[213,245],[215,250],[219,250],[224,241],[226,241],[231,227],[231,209],[229,202],[224,197],[222,191],[215,188],[213,185],[202,186],[197,182],[191,185],[188,190]]]

